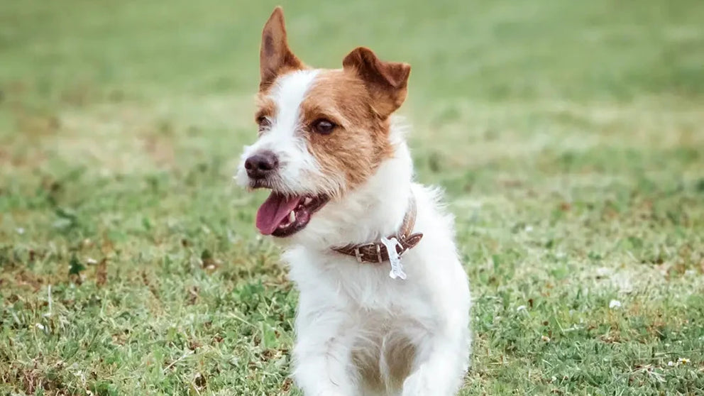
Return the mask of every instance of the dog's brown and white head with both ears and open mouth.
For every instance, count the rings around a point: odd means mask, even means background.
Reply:
[[[291,236],[331,199],[373,175],[389,158],[389,116],[406,97],[405,63],[383,62],[357,48],[337,70],[312,69],[288,48],[283,12],[264,26],[255,120],[237,179],[271,189],[257,213],[265,235]]]

